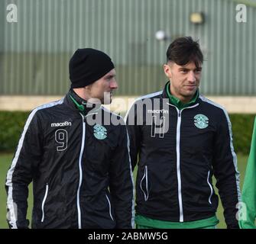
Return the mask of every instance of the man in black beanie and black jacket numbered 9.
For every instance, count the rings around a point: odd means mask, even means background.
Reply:
[[[76,50],[70,59],[70,91],[29,115],[6,178],[10,228],[29,226],[31,181],[32,228],[134,226],[125,123],[101,106],[118,88],[114,68],[102,51]]]

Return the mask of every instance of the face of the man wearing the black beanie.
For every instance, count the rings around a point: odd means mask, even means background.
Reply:
[[[117,88],[118,84],[115,79],[115,69],[112,69],[101,79],[93,82],[92,85],[88,85],[87,92],[89,101],[99,103],[100,100],[102,104],[110,104],[112,101],[112,92]]]

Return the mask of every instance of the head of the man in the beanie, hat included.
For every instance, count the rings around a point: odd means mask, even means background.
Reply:
[[[92,48],[78,49],[70,59],[71,88],[81,98],[92,103],[98,98],[109,104],[112,91],[118,88],[115,66],[108,55]],[[105,95],[105,101],[104,101]]]

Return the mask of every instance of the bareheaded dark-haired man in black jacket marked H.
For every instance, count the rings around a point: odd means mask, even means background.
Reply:
[[[177,38],[167,50],[164,90],[138,98],[126,115],[133,169],[138,163],[138,228],[215,228],[212,175],[225,223],[238,228],[232,127],[225,109],[199,94],[202,65],[199,43]]]

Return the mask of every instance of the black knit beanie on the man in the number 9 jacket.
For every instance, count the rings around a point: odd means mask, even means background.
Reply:
[[[71,88],[90,85],[114,68],[110,57],[102,51],[78,49],[70,59]]]

